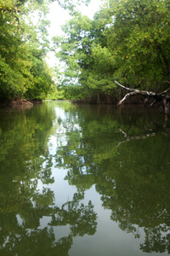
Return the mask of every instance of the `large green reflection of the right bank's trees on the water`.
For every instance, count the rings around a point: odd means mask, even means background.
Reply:
[[[56,154],[65,179],[79,191],[95,184],[122,230],[139,238],[143,228],[143,252],[170,253],[169,120],[148,109],[75,106],[67,122]]]

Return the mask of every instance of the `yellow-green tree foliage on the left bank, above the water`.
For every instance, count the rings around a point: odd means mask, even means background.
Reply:
[[[1,99],[42,98],[52,84],[51,73],[44,61],[48,49],[48,41],[44,39],[48,23],[40,20],[39,29],[36,30],[29,21],[32,11],[45,12],[47,4],[43,1],[26,2],[1,1]],[[39,43],[40,35],[42,43]]]

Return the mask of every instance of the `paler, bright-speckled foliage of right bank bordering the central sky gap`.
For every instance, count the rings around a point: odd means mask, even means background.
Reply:
[[[77,15],[63,26],[65,38],[54,38],[57,47],[62,48],[57,56],[61,61],[66,62],[65,79],[62,81],[62,85],[69,98],[82,95],[80,92],[82,88],[79,89],[78,84],[86,86],[93,42],[89,32],[91,28],[92,22],[87,16]]]

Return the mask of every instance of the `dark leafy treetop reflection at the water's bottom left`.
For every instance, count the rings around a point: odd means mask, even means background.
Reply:
[[[48,193],[44,191],[44,198],[48,197]],[[35,207],[27,203],[15,206],[22,224],[19,223],[16,214],[7,210],[1,213],[1,255],[68,255],[76,236],[94,235],[96,231],[94,206],[90,201],[88,206],[80,204],[82,196],[75,194],[72,201],[66,202],[60,208],[48,207],[48,204],[44,206],[43,203]],[[43,216],[50,217],[51,221],[48,226],[41,229],[40,219]],[[70,227],[69,236],[56,241],[53,227],[66,225]]]

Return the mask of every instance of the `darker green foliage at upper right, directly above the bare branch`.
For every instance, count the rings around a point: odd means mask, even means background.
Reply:
[[[114,22],[105,36],[116,62],[115,78],[132,87],[164,89],[170,74],[168,1],[109,3]]]

